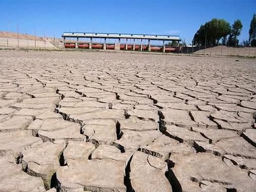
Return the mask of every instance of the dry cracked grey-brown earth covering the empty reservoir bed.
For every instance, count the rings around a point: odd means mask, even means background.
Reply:
[[[0,52],[0,191],[255,191],[256,63]]]

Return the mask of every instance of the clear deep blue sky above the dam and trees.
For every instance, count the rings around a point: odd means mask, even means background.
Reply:
[[[0,0],[0,31],[61,37],[64,31],[180,35],[186,42],[211,18],[248,30],[256,0]],[[9,26],[9,27],[8,27]]]

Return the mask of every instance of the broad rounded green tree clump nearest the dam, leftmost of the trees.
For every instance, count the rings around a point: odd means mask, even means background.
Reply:
[[[224,19],[213,18],[204,25],[201,25],[200,29],[194,36],[194,45],[204,45],[206,36],[206,45],[218,45],[219,40],[223,38],[225,44],[227,35],[230,34],[231,27]]]

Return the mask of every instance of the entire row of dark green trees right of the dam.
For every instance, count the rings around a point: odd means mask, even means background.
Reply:
[[[237,19],[230,26],[224,19],[213,18],[204,25],[194,35],[194,45],[216,46],[222,40],[222,45],[237,46],[239,43],[238,36],[241,34],[243,25],[241,20]],[[256,16],[253,14],[249,40],[244,41],[244,44],[256,46]]]

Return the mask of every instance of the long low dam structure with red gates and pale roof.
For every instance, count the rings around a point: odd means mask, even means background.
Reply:
[[[65,48],[131,50],[175,52],[180,49],[180,37],[177,35],[148,35],[128,33],[82,33],[64,32],[62,34]],[[167,46],[168,42],[177,41],[177,46]]]

